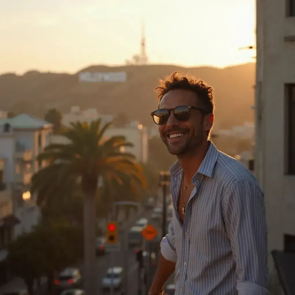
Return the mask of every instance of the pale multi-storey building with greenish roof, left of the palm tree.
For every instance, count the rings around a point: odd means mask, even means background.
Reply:
[[[40,211],[35,196],[30,194],[30,183],[40,168],[37,156],[48,145],[52,129],[52,124],[28,114],[0,119],[0,158],[6,164],[5,183],[11,188],[13,213],[20,221],[13,237],[30,231],[39,221]]]

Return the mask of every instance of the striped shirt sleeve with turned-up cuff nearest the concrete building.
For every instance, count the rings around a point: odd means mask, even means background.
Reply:
[[[224,196],[223,215],[236,262],[238,294],[268,295],[267,226],[258,183],[234,183]]]

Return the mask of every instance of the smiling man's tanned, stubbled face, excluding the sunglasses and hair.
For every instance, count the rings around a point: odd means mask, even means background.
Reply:
[[[191,109],[191,116],[186,122],[179,122],[173,115],[177,106],[198,107],[196,94],[187,90],[171,90],[163,96],[159,109],[170,109],[168,121],[159,125],[160,136],[172,155],[193,153],[203,140],[207,139],[207,131],[213,124],[213,115],[204,117],[199,110]]]

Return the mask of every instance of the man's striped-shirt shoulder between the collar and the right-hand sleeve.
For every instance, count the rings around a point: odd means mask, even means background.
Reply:
[[[219,151],[214,177],[222,183],[231,186],[239,181],[257,184],[253,173],[241,162]]]

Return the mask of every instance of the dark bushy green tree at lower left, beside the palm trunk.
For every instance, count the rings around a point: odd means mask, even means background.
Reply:
[[[8,260],[12,272],[24,279],[32,295],[35,279],[46,274],[51,289],[53,273],[75,263],[82,255],[82,228],[42,224],[9,245]]]

